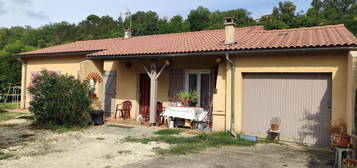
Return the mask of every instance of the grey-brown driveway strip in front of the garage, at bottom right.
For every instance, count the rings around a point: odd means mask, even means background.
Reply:
[[[120,167],[120,166],[118,166]],[[279,144],[223,147],[199,154],[163,156],[125,168],[334,168],[331,153]]]

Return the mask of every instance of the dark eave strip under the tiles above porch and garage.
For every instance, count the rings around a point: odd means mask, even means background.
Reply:
[[[137,58],[170,58],[185,56],[218,56],[224,54],[264,54],[264,53],[294,53],[294,52],[327,52],[327,51],[357,51],[357,46],[349,47],[310,47],[310,48],[280,48],[280,49],[251,49],[251,50],[229,50],[211,52],[189,52],[189,53],[168,53],[168,54],[142,54],[142,55],[106,55],[87,56],[92,60],[127,60]]]

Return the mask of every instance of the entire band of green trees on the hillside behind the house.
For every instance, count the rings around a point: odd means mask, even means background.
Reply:
[[[265,29],[283,29],[345,24],[357,35],[356,0],[312,0],[306,12],[296,10],[293,2],[283,1],[272,9],[271,14],[257,20],[246,9],[210,11],[204,7],[191,10],[186,19],[179,15],[169,19],[159,17],[154,11],[138,11],[131,20],[134,36],[220,29],[223,28],[223,18],[230,16],[237,18],[238,27],[264,25]],[[20,63],[11,55],[77,40],[122,37],[124,28],[130,26],[129,20],[129,17],[115,19],[89,15],[78,24],[64,21],[39,28],[0,28],[0,94],[10,84],[20,84]]]

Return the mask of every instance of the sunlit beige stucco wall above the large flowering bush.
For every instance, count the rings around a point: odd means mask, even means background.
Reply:
[[[49,71],[60,71],[61,74],[68,74],[77,77],[80,71],[80,62],[85,60],[85,56],[52,56],[52,57],[32,57],[23,59],[26,63],[26,79],[22,80],[22,88],[27,88],[31,82],[31,73],[39,72],[43,69]],[[22,71],[24,72],[24,68]],[[26,82],[25,82],[26,81]],[[29,107],[30,96],[26,91],[25,107]]]

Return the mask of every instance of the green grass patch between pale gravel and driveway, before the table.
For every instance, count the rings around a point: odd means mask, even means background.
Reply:
[[[228,132],[213,132],[201,133],[192,137],[174,137],[171,135],[161,135],[150,138],[133,138],[126,137],[123,142],[138,142],[147,144],[152,141],[165,142],[172,144],[169,149],[156,149],[159,154],[174,154],[181,155],[187,153],[200,152],[207,148],[221,147],[221,146],[251,146],[255,142],[246,141],[239,138],[233,138]]]

